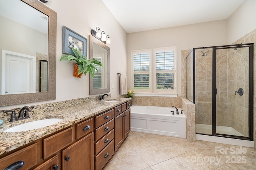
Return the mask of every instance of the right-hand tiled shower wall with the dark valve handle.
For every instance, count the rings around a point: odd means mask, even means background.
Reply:
[[[232,110],[232,128],[244,136],[248,136],[248,48],[229,49],[228,52],[228,80],[229,96]],[[244,89],[242,96],[234,92]]]

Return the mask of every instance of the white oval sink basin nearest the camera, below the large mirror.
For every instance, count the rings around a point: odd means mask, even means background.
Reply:
[[[14,127],[4,130],[4,132],[22,132],[22,131],[27,131],[27,130],[39,129],[39,128],[43,128],[46,126],[50,126],[52,124],[56,124],[62,120],[63,119],[59,119],[59,118],[36,120],[33,122],[19,124],[17,126],[14,126]]]

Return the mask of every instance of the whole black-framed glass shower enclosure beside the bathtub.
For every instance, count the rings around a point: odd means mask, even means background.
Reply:
[[[253,43],[193,48],[186,98],[196,105],[197,134],[253,140]]]

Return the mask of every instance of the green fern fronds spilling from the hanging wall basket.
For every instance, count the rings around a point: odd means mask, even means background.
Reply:
[[[71,48],[71,50],[74,52],[74,55],[76,56],[72,56],[70,54],[63,54],[60,57],[60,61],[62,60],[68,60],[68,61],[72,61],[75,60],[76,63],[78,64],[78,74],[84,73],[84,75],[87,74],[87,72],[90,73],[90,75],[92,76],[92,78],[94,77],[94,73],[98,70],[96,68],[95,65],[99,65],[102,66],[102,62],[99,60],[96,60],[95,58],[91,58],[91,59],[87,59],[87,57],[80,52],[80,50],[78,48]]]

